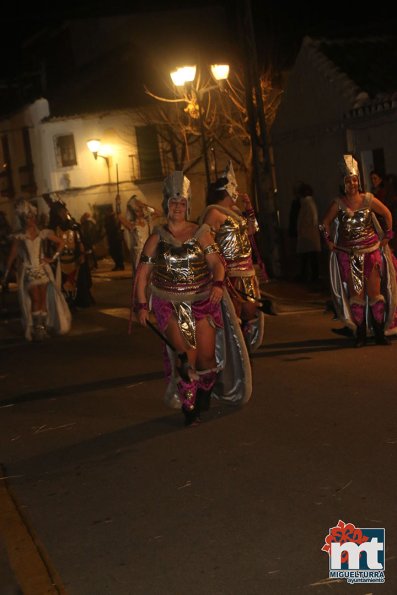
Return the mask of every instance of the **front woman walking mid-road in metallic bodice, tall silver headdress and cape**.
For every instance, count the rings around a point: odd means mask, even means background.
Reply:
[[[154,229],[144,246],[133,308],[144,326],[153,309],[160,331],[175,349],[164,350],[164,399],[171,407],[181,407],[185,425],[191,425],[208,409],[211,391],[215,398],[246,402],[251,369],[233,307],[227,303],[218,247],[207,225],[188,220],[190,182],[183,172],[165,179],[163,195],[167,222]],[[178,376],[176,352],[187,355],[187,379]]]

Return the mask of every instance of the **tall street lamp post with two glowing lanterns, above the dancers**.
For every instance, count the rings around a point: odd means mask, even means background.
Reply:
[[[214,80],[217,82],[217,85],[212,85],[207,88],[198,89],[193,86],[194,79],[196,78],[196,66],[182,66],[174,70],[170,73],[171,80],[174,83],[175,87],[185,87],[188,92],[190,93],[190,101],[197,104],[197,112],[198,112],[198,120],[200,124],[200,135],[201,135],[201,144],[202,144],[202,152],[204,158],[204,166],[205,166],[205,175],[207,178],[207,187],[209,187],[211,183],[211,173],[210,173],[210,166],[208,160],[208,150],[207,150],[207,138],[205,134],[205,122],[204,122],[204,113],[203,113],[203,104],[202,104],[202,97],[204,93],[208,93],[213,89],[219,89],[222,81],[226,80],[229,76],[229,65],[228,64],[212,64],[211,65],[211,74]],[[193,110],[191,111],[193,113]]]

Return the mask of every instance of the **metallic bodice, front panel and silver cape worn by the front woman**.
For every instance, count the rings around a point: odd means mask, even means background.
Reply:
[[[160,236],[156,256],[150,259],[154,265],[151,274],[151,300],[160,298],[171,303],[178,326],[187,344],[196,346],[196,321],[194,307],[209,297],[212,274],[205,259],[205,250],[198,239],[208,225],[202,225],[194,236],[180,242],[164,226],[153,233]],[[148,262],[142,257],[142,262]],[[252,376],[249,354],[239,321],[226,290],[221,302],[223,327],[216,328],[216,371],[217,379],[212,391],[216,399],[240,405],[247,402],[252,393]],[[211,319],[211,311],[207,314]],[[215,320],[215,317],[214,317]],[[216,322],[216,320],[215,320]],[[167,347],[171,365],[170,381],[164,400],[168,406],[180,408],[178,378],[175,354]]]

